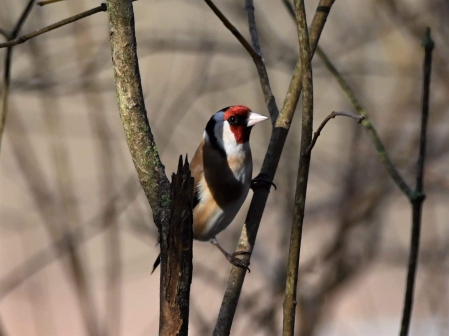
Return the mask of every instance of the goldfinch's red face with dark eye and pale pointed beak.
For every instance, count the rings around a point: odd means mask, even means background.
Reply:
[[[238,144],[248,142],[252,127],[267,119],[267,117],[251,112],[248,107],[243,105],[231,106],[224,112],[224,120],[229,123],[229,128]]]

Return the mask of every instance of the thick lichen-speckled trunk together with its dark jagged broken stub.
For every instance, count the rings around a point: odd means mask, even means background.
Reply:
[[[189,164],[180,159],[170,186],[143,101],[132,2],[108,0],[108,16],[120,117],[161,238],[159,334],[187,335],[193,239]]]

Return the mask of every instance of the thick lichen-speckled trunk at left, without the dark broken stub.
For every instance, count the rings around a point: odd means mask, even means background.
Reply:
[[[108,0],[112,64],[117,101],[128,147],[156,226],[170,220],[170,182],[165,175],[147,118],[136,51],[131,1]]]

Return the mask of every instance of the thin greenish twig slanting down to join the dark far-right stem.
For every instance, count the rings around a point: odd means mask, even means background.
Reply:
[[[393,181],[396,183],[396,185],[401,189],[401,191],[407,196],[412,197],[413,190],[412,188],[405,182],[402,175],[398,172],[397,168],[394,166],[394,164],[391,162],[390,157],[388,156],[387,150],[382,143],[382,140],[380,139],[379,135],[377,134],[376,129],[374,128],[371,120],[369,119],[368,113],[365,110],[364,107],[362,107],[362,104],[359,102],[357,97],[355,96],[354,92],[350,88],[349,84],[346,82],[346,80],[342,77],[340,72],[335,68],[335,66],[332,64],[331,60],[327,57],[327,55],[324,53],[324,51],[317,47],[316,50],[318,56],[320,56],[321,60],[324,62],[328,70],[334,75],[335,79],[337,79],[338,83],[340,84],[343,91],[348,96],[349,100],[351,101],[352,105],[354,106],[357,113],[365,117],[365,120],[362,121],[362,126],[365,128],[366,132],[368,133],[369,138],[374,144],[374,147],[376,148],[379,160],[385,165],[385,168],[387,169],[388,173],[390,174]]]

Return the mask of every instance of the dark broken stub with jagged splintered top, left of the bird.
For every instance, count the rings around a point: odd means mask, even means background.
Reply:
[[[161,240],[159,335],[187,335],[192,282],[193,178],[189,163],[179,158],[171,183],[172,216],[167,239]]]

